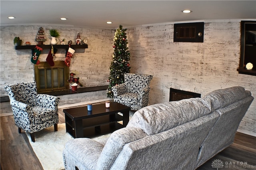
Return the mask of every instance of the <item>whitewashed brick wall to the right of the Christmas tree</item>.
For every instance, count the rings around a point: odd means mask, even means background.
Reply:
[[[131,72],[152,74],[149,104],[169,101],[170,88],[200,93],[243,86],[256,97],[256,77],[238,74],[240,22],[205,22],[204,42],[173,42],[173,23],[130,27]],[[239,131],[256,136],[256,100]]]

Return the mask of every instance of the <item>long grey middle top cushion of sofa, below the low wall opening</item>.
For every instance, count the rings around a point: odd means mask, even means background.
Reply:
[[[210,100],[202,98],[154,104],[136,111],[127,127],[140,128],[147,135],[154,135],[192,121],[211,111]]]

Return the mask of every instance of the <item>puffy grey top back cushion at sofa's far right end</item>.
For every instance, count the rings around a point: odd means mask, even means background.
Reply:
[[[244,99],[250,96],[249,91],[245,91],[241,86],[234,86],[225,89],[214,90],[204,96],[204,98],[210,99],[213,109],[219,109],[238,100]]]

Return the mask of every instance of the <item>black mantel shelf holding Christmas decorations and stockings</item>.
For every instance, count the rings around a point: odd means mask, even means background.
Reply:
[[[56,49],[68,49],[69,45],[37,45],[38,47],[41,47],[42,49],[51,49],[52,46]],[[16,45],[16,50],[24,50],[24,49],[35,49],[36,45]],[[70,48],[72,49],[87,49],[88,45],[70,45]]]

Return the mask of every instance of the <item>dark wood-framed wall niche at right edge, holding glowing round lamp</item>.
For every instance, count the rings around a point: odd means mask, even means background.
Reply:
[[[246,64],[252,63],[253,68],[247,69]],[[239,74],[256,76],[256,21],[241,21],[241,51]]]

